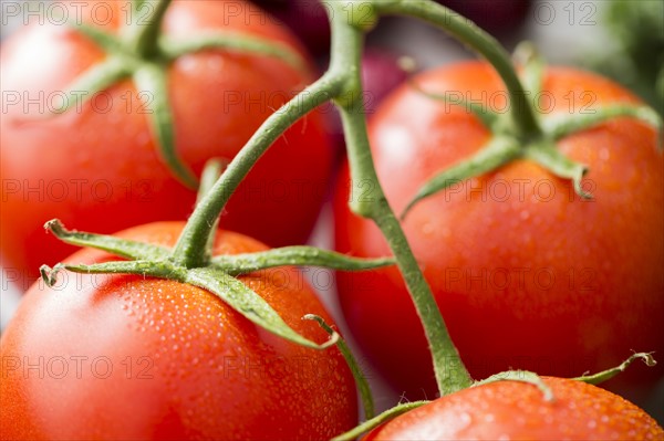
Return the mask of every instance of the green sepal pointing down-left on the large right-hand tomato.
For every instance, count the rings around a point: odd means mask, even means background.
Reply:
[[[474,156],[439,172],[422,186],[402,212],[402,220],[405,219],[411,209],[421,200],[445,190],[453,183],[492,171],[517,158],[520,154],[521,148],[517,145],[516,139],[495,136]]]

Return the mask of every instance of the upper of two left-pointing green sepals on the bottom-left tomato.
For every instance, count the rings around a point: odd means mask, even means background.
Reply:
[[[167,256],[170,251],[165,246],[120,239],[114,235],[70,231],[58,219],[48,221],[44,228],[64,243],[107,251],[121,258],[158,261]]]

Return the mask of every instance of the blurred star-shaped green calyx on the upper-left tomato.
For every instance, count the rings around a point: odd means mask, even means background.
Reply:
[[[117,34],[100,28],[69,21],[102,51],[106,57],[83,72],[65,91],[66,99],[50,117],[68,112],[122,80],[132,80],[144,102],[149,129],[164,164],[185,186],[197,188],[198,180],[176,151],[173,111],[168,99],[168,66],[186,54],[216,50],[272,56],[289,66],[305,71],[307,63],[292,49],[266,39],[222,31],[201,31],[191,36],[172,39],[162,34],[162,23],[170,0],[133,2],[133,21]],[[81,102],[82,99],[82,102]]]

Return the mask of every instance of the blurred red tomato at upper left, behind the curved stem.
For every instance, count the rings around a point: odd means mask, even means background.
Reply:
[[[77,17],[77,9],[112,31],[127,20],[128,6],[87,2],[73,6],[69,17]],[[102,12],[110,8],[106,23]],[[133,82],[118,83],[81,109],[43,118],[61,92],[104,57],[95,44],[58,22],[45,20],[12,35],[0,59],[1,254],[7,271],[30,271],[28,283],[41,264],[73,251],[44,235],[42,225],[54,213],[65,224],[111,233],[156,220],[184,220],[196,196],[159,159],[145,105],[153,97]],[[181,39],[206,30],[262,36],[302,52],[286,27],[236,0],[176,0],[163,30]],[[177,154],[197,175],[211,157],[231,159],[271,113],[312,80],[281,60],[237,51],[178,59],[168,67]],[[304,242],[331,167],[321,115],[310,114],[257,162],[221,225],[274,246]],[[270,228],[264,228],[266,219]],[[8,279],[17,277],[8,273]]]

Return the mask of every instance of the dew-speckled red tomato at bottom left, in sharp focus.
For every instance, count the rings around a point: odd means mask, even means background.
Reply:
[[[173,245],[183,225],[152,223],[120,235]],[[220,231],[215,252],[264,249]],[[107,260],[89,249],[68,259]],[[315,323],[301,319],[313,313],[332,323],[298,274],[280,269],[241,280],[297,332],[325,342]],[[356,423],[353,377],[336,348],[276,337],[190,285],[129,275],[60,277],[54,288],[32,286],[0,340],[2,440],[318,440]]]

